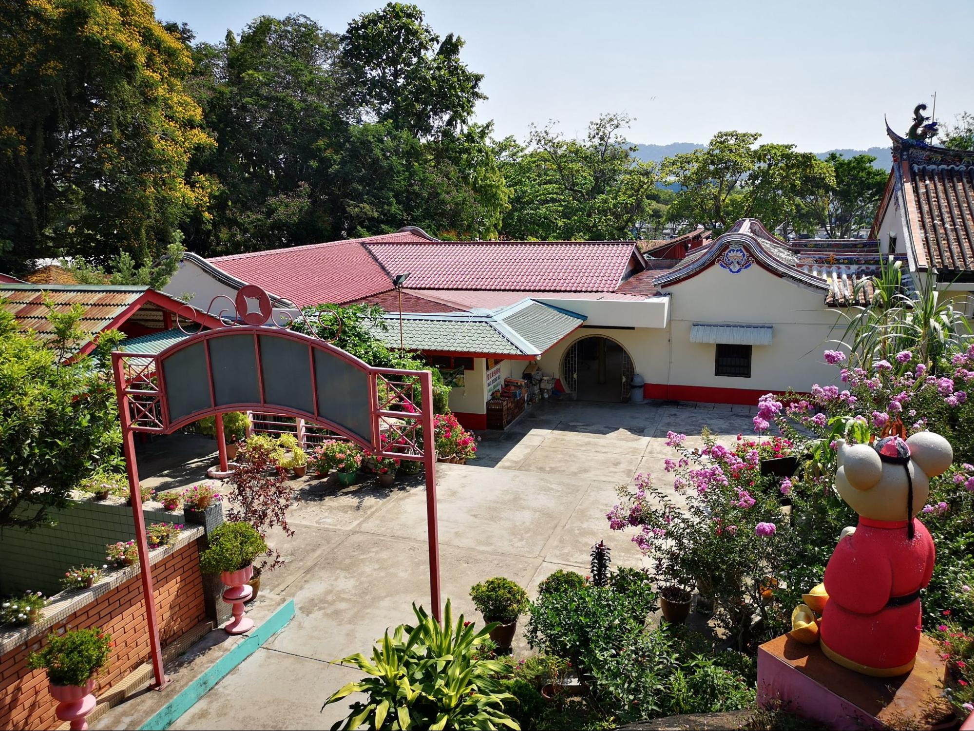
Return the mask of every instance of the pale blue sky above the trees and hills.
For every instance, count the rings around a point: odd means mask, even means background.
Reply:
[[[342,32],[383,0],[156,0],[201,39],[259,15],[302,13]],[[523,137],[556,119],[581,134],[604,111],[636,118],[636,142],[760,132],[801,149],[886,145],[937,92],[937,119],[974,112],[974,1],[418,0],[441,36],[461,35],[490,98],[479,120]],[[956,31],[956,32],[955,32]],[[928,110],[929,113],[929,110]]]

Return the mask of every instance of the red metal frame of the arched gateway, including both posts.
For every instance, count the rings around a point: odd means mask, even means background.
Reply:
[[[210,358],[210,345],[213,341],[226,337],[251,336],[254,346],[254,363],[258,377],[259,401],[217,403],[213,364]],[[266,339],[269,338],[269,339]],[[297,342],[308,348],[309,375],[312,382],[313,411],[295,408],[291,405],[276,404],[266,398],[262,363],[262,342],[273,344],[279,341]],[[169,416],[169,392],[166,383],[165,365],[169,359],[188,348],[203,345],[205,367],[202,372],[181,373],[181,375],[206,378],[209,403],[193,409],[175,419]],[[360,404],[368,411],[368,441],[347,426],[320,413],[318,382],[316,376],[315,353],[320,352],[342,363],[352,365],[367,379],[367,397]],[[177,364],[178,365],[178,364]],[[167,683],[163,669],[162,647],[156,617],[152,590],[152,571],[149,565],[149,552],[146,543],[145,520],[139,490],[138,466],[135,460],[133,434],[148,432],[171,434],[180,427],[206,416],[214,416],[217,427],[217,446],[220,450],[221,468],[227,469],[226,447],[223,442],[222,415],[228,411],[259,410],[281,413],[306,419],[312,423],[340,434],[381,456],[422,461],[426,466],[427,521],[430,549],[430,592],[432,614],[440,618],[439,586],[439,539],[436,518],[435,492],[435,441],[433,435],[432,377],[426,370],[403,370],[380,368],[368,365],[350,353],[318,338],[294,332],[281,327],[267,325],[228,325],[212,330],[198,332],[178,343],[169,346],[161,353],[112,353],[112,367],[115,375],[115,389],[118,396],[119,416],[122,422],[123,448],[129,473],[129,488],[135,537],[138,545],[139,565],[142,574],[142,595],[145,599],[146,621],[149,627],[155,687],[162,688]],[[184,366],[185,367],[185,366]],[[197,370],[200,370],[199,368]],[[170,373],[171,375],[171,373]],[[419,385],[421,399],[415,397],[415,387]],[[199,398],[199,396],[197,396]],[[419,445],[418,428],[422,427],[426,439]],[[383,440],[383,430],[393,439]]]

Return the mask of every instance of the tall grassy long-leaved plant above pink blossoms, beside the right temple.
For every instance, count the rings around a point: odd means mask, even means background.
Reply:
[[[896,353],[909,350],[920,363],[936,367],[947,354],[966,346],[972,330],[957,305],[968,298],[942,297],[934,272],[915,282],[917,288],[907,291],[903,262],[889,256],[880,259],[879,276],[856,285],[853,301],[863,294],[869,303],[850,307],[840,316],[846,321],[840,343],[849,351],[850,365],[868,370],[877,361],[889,361]],[[871,298],[869,289],[873,289]]]

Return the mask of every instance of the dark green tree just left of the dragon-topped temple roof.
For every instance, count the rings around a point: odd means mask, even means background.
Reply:
[[[843,158],[830,152],[826,163],[835,173],[835,185],[822,186],[803,204],[805,228],[825,230],[830,239],[848,239],[869,226],[880,204],[888,174],[873,165],[872,155]]]

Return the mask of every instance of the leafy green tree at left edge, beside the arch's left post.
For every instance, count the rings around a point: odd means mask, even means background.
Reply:
[[[80,308],[52,310],[56,339],[45,347],[0,310],[0,527],[45,523],[96,468],[121,465],[107,359],[121,334],[105,331],[94,358],[63,363],[78,338],[80,316]]]

